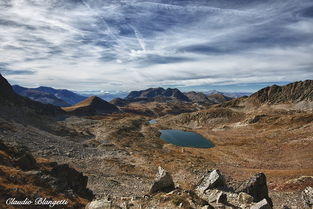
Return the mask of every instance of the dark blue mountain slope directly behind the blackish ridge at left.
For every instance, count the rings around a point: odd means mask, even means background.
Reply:
[[[13,85],[12,86],[13,90],[18,93],[21,96],[28,97],[33,101],[38,101],[41,103],[48,103],[48,104],[53,104],[55,106],[59,107],[70,107],[72,106],[71,104],[65,102],[62,99],[59,99],[58,97],[55,97],[53,94],[46,93],[44,91],[36,91],[31,88],[25,88],[22,86],[18,85]]]

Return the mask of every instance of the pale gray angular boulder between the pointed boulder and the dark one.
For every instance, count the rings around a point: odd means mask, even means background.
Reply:
[[[197,191],[206,191],[218,186],[225,186],[225,178],[221,175],[219,170],[213,170],[210,175],[206,176],[196,188]]]

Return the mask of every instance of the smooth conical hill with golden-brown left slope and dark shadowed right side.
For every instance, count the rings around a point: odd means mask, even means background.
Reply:
[[[92,117],[102,115],[103,113],[111,114],[112,112],[120,112],[118,107],[96,96],[89,97],[72,107],[62,107],[62,109],[65,110],[68,115],[78,117]]]

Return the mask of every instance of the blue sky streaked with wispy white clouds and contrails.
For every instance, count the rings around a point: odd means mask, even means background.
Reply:
[[[0,73],[69,90],[255,92],[313,79],[312,0],[0,0]]]

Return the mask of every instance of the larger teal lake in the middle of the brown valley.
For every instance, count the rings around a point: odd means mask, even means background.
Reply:
[[[212,148],[215,145],[199,133],[180,131],[176,129],[159,130],[160,138],[167,144],[175,144],[178,147]]]

